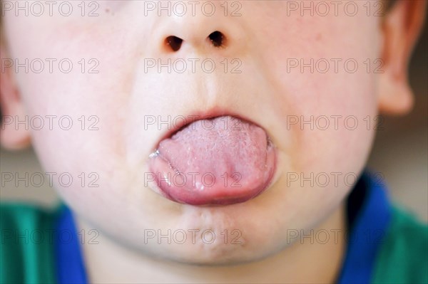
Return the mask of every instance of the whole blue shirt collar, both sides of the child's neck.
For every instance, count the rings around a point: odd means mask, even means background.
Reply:
[[[375,257],[390,219],[386,186],[369,173],[362,174],[347,199],[347,219],[350,237],[337,283],[370,283]],[[58,283],[88,283],[79,245],[81,238],[66,206],[58,219],[57,232],[61,236],[56,242]]]

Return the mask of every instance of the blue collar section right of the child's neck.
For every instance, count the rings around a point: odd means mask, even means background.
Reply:
[[[350,237],[337,283],[370,283],[390,217],[386,186],[365,172],[347,199]]]

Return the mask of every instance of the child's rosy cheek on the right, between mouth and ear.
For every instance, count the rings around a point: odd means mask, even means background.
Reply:
[[[277,86],[271,105],[281,117],[278,132],[292,140],[287,155],[298,171],[358,174],[377,120],[378,20],[359,14],[287,21],[261,31],[275,38],[263,61]]]

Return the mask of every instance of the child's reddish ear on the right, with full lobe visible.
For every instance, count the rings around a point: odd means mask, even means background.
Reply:
[[[407,65],[424,24],[427,1],[397,1],[382,22],[384,73],[379,74],[379,112],[400,115],[413,106]]]

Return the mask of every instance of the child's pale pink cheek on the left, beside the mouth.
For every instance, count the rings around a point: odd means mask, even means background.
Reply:
[[[34,148],[46,172],[53,173],[56,189],[76,206],[90,208],[106,203],[119,188],[126,191],[132,180],[124,162],[122,125],[127,119],[134,53],[130,45],[108,41],[114,36],[106,36],[109,25],[102,30],[82,29],[86,32],[78,38],[72,27],[62,28],[29,33],[31,47],[11,38],[11,50],[20,62],[41,58],[44,68],[51,68],[52,72],[16,74],[28,117],[41,117],[44,122],[41,130],[32,131]],[[12,29],[22,34],[24,25]],[[51,66],[47,58],[53,59]]]

